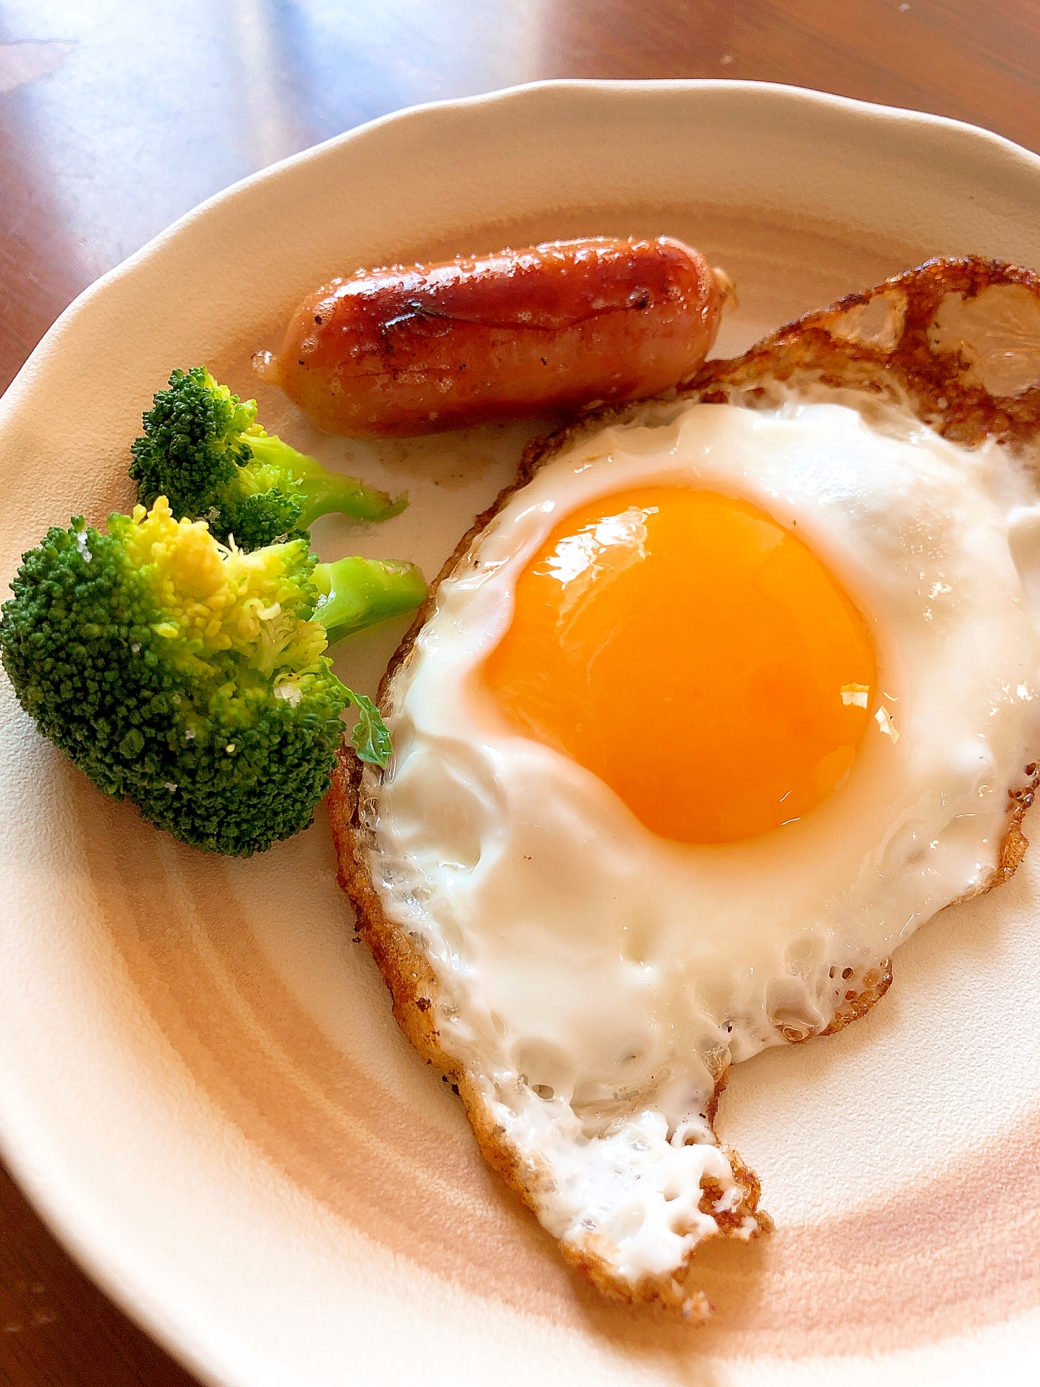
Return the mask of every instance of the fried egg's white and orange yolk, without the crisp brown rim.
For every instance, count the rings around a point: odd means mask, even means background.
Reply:
[[[993,882],[1033,774],[1028,472],[856,404],[578,436],[387,688],[383,911],[513,1183],[618,1294],[757,1230],[711,1128],[728,1065],[883,990]]]

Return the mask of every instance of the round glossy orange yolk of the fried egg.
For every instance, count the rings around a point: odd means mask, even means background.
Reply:
[[[792,530],[659,485],[556,526],[484,678],[517,731],[599,775],[655,834],[728,843],[846,778],[876,667],[863,616]]]

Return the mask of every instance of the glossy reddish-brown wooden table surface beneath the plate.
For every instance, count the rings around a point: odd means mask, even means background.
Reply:
[[[82,288],[218,189],[398,107],[560,76],[789,82],[1040,151],[1034,0],[7,0],[0,390]],[[0,1383],[191,1381],[0,1171]]]

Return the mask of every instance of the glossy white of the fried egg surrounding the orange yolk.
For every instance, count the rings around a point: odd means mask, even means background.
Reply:
[[[879,706],[853,771],[772,834],[657,838],[481,682],[549,533],[638,484],[750,501],[871,627]],[[707,1121],[727,1065],[822,1031],[849,979],[993,878],[1040,731],[1034,503],[1000,449],[867,401],[652,405],[557,455],[441,585],[388,689],[395,759],[366,778],[373,881],[434,968],[441,1046],[545,1175],[539,1218],[621,1280],[678,1269],[716,1232],[704,1176],[717,1211],[736,1203]],[[634,677],[627,696],[631,755],[667,756],[655,691]]]

